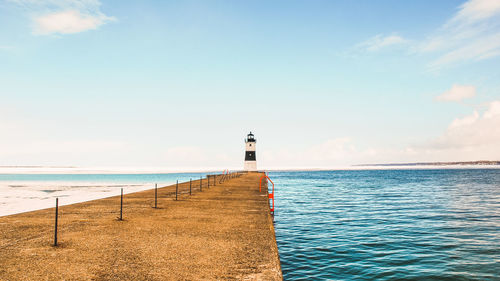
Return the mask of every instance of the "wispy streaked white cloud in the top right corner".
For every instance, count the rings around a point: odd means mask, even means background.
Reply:
[[[469,0],[417,51],[435,52],[431,70],[500,55],[500,1]]]

